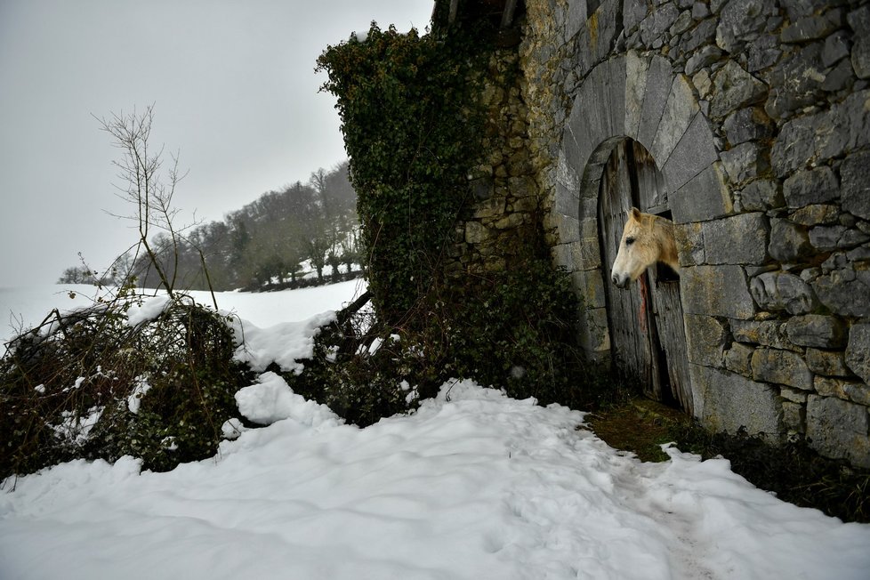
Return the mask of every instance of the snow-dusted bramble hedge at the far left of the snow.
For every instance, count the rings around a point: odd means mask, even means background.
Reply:
[[[140,457],[155,471],[214,455],[234,393],[250,384],[233,361],[229,321],[175,292],[130,325],[145,299],[126,288],[61,313],[7,344],[0,358],[0,479],[76,458]]]

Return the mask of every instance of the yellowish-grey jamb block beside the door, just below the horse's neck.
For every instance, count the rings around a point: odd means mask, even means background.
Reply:
[[[683,310],[728,318],[753,318],[755,303],[739,266],[693,266],[680,272]]]

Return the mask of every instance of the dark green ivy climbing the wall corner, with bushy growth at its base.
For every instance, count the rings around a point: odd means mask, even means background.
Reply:
[[[540,220],[517,230],[503,269],[445,275],[473,209],[470,173],[486,157],[485,135],[500,137],[499,113],[481,99],[494,38],[487,20],[426,36],[373,24],[318,59],[323,90],[338,98],[378,321],[321,334],[316,360],[288,383],[351,422],[407,407],[401,385],[425,398],[450,377],[542,403],[585,397],[579,305]]]

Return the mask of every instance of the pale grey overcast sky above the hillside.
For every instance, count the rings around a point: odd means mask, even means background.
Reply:
[[[353,31],[423,31],[433,0],[0,0],[0,286],[51,284],[132,244],[93,117],[154,105],[188,219],[222,220],[344,157],[315,60]]]

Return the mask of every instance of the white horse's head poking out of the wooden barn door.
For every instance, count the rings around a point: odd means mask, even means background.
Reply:
[[[673,222],[650,213],[640,213],[638,208],[632,207],[619,242],[619,252],[610,269],[611,279],[616,286],[624,288],[656,262],[664,262],[679,275]]]

